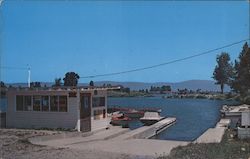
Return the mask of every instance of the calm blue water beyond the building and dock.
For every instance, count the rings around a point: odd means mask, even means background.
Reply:
[[[208,128],[214,127],[219,120],[221,106],[229,103],[232,102],[208,99],[162,99],[160,97],[108,98],[109,107],[161,108],[162,116],[176,117],[177,122],[155,138],[182,141],[193,141]],[[141,125],[137,121],[130,126],[134,129]]]

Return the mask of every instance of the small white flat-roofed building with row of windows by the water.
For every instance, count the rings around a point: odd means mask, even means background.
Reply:
[[[106,88],[13,89],[7,93],[6,127],[65,128],[88,132],[108,127]]]

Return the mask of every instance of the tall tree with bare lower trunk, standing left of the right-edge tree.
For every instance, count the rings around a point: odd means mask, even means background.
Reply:
[[[230,56],[228,53],[221,53],[216,58],[217,65],[215,66],[213,78],[216,84],[220,85],[221,93],[224,92],[224,85],[230,84],[233,75],[233,65],[230,63]]]

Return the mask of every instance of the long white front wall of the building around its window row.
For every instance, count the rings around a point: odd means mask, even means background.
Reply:
[[[67,112],[16,111],[16,95],[66,95],[68,91],[8,91],[6,126],[8,128],[70,128],[77,127],[78,100],[68,98]]]

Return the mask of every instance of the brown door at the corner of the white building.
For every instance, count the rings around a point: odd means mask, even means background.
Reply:
[[[91,131],[90,97],[90,93],[80,94],[80,130],[82,132]]]

